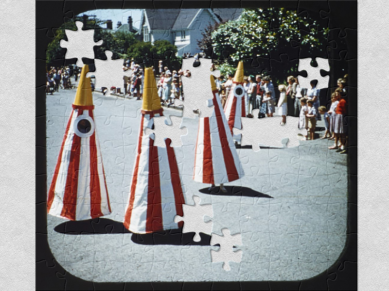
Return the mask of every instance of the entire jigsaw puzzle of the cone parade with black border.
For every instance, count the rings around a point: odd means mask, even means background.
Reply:
[[[356,264],[356,2],[77,5],[37,27],[37,289],[337,289]]]

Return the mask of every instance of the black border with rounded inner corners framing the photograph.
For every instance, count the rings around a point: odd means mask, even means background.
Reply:
[[[96,283],[85,281],[65,271],[55,260],[47,240],[47,170],[46,170],[46,66],[42,55],[52,41],[51,28],[63,24],[64,17],[72,18],[79,13],[94,9],[163,9],[163,8],[232,8],[232,7],[277,7],[296,6],[302,2],[291,1],[236,1],[236,0],[36,0],[36,290],[356,290],[357,289],[357,124],[356,118],[349,122],[350,140],[348,153],[348,217],[347,241],[338,261],[325,272],[302,281],[259,282],[121,282]],[[321,1],[327,2],[327,1]],[[349,11],[336,9],[341,2],[350,5]],[[356,23],[357,1],[328,1],[330,17],[341,18],[345,27],[350,21]],[[49,28],[48,30],[45,28]],[[356,47],[355,39],[348,39]],[[65,62],[66,63],[66,62]],[[356,61],[349,71],[356,72]],[[339,76],[342,77],[342,76]],[[354,75],[356,84],[356,74]],[[354,100],[349,105],[349,115],[356,114],[356,87]],[[351,91],[351,90],[350,90]],[[350,98],[349,98],[350,100]]]

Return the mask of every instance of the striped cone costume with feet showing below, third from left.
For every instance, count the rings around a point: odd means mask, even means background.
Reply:
[[[214,110],[211,117],[199,118],[193,179],[222,184],[242,178],[244,172],[212,75],[211,86],[213,98],[210,101]]]

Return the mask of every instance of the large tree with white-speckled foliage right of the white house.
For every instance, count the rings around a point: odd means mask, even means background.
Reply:
[[[309,31],[312,26],[317,26],[316,21],[298,16],[296,11],[284,8],[244,9],[241,17],[221,24],[212,32],[212,48],[218,59],[222,59],[223,52],[228,51],[229,59],[235,63],[245,58],[269,58],[270,50],[279,49],[280,38],[288,42],[295,40],[300,46],[314,51],[326,42],[328,29],[317,27],[311,32],[301,33],[301,28]],[[225,69],[227,67],[224,66]]]

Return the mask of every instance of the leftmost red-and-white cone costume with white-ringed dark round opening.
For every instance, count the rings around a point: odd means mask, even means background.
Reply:
[[[47,199],[49,214],[70,220],[111,213],[88,71],[84,65]]]

